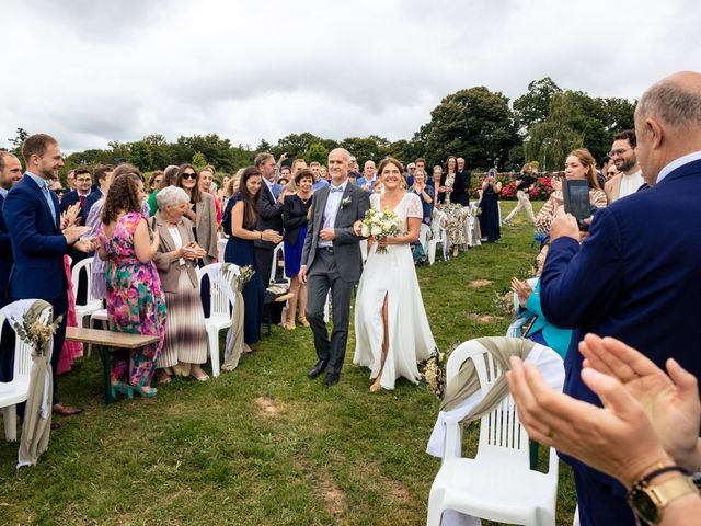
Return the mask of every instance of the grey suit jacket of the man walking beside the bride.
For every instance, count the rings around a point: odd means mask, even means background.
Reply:
[[[319,231],[324,224],[324,209],[329,198],[329,188],[318,190],[311,205],[311,216],[307,226],[307,237],[304,238],[304,249],[302,251],[301,264],[311,270],[317,255],[319,242]],[[343,205],[344,202],[349,203]],[[358,238],[353,231],[353,225],[357,220],[363,220],[365,213],[370,208],[369,194],[359,186],[348,181],[343,193],[334,229],[336,238],[333,240],[333,255],[336,268],[344,282],[357,282],[363,273],[363,255],[358,244],[363,238]]]

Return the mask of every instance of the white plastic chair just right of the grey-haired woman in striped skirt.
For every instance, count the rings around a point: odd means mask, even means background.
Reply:
[[[233,302],[229,290],[222,288],[220,284],[231,283],[231,278],[239,274],[239,267],[231,265],[228,271],[217,278],[214,265],[206,265],[197,268],[197,277],[202,287],[202,278],[205,274],[209,276],[209,294],[211,297],[209,318],[205,318],[205,330],[207,331],[207,348],[211,358],[211,374],[217,377],[220,374],[219,366],[219,331],[231,327],[231,313],[233,311]]]

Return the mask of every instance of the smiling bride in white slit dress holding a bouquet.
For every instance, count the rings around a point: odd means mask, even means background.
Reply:
[[[371,391],[394,389],[394,380],[401,376],[418,384],[416,364],[436,347],[410,247],[418,239],[423,210],[418,196],[403,188],[402,172],[395,159],[380,163],[383,191],[370,196],[370,206],[393,210],[402,233],[381,241],[388,249],[386,254],[376,253],[377,243],[369,248],[355,300],[353,363],[370,368],[370,379],[375,379]]]

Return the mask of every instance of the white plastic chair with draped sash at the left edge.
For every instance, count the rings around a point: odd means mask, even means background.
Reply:
[[[42,323],[48,323],[51,308],[47,307],[39,315]],[[0,311],[0,328],[5,316]],[[60,351],[60,350],[59,350]],[[50,356],[49,356],[50,359]],[[30,374],[32,373],[32,346],[18,336],[14,343],[14,369],[11,381],[0,384],[0,408],[4,420],[4,437],[7,441],[18,439],[16,404],[26,401],[30,392]]]

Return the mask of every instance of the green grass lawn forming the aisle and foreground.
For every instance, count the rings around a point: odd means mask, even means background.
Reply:
[[[504,216],[513,206],[503,203]],[[519,215],[497,243],[418,270],[441,350],[504,334],[495,290],[526,275],[531,240]],[[16,443],[0,442],[0,524],[423,524],[439,467],[424,453],[438,400],[404,380],[370,393],[353,348],[352,333],[341,384],[325,389],[306,376],[315,362],[309,329],[274,328],[232,373],[111,407],[93,355],[60,378],[62,399],[85,413],[57,419],[36,468],[16,473]],[[474,448],[475,430],[466,435]],[[572,524],[574,506],[561,467],[558,524]]]

